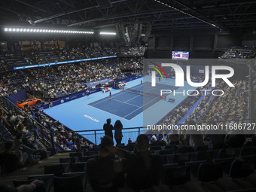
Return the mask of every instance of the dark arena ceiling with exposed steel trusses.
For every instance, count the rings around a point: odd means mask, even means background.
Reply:
[[[104,0],[101,0],[104,1]],[[151,23],[152,32],[212,29],[248,31],[256,26],[256,1],[237,0],[8,0],[0,2],[2,26],[115,29]]]

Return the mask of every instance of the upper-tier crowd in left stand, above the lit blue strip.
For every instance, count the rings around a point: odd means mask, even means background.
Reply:
[[[89,59],[101,56],[143,56],[145,47],[77,47],[63,49],[32,49],[24,52],[17,48],[14,52],[0,53],[0,69],[11,70],[14,66],[38,65],[75,59]]]

